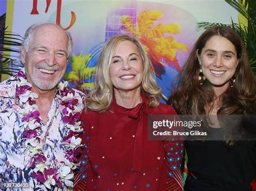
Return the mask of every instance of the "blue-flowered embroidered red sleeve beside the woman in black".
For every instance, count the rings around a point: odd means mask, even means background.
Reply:
[[[181,162],[184,154],[184,142],[181,140],[166,140],[164,144],[167,163],[167,190],[183,190]]]

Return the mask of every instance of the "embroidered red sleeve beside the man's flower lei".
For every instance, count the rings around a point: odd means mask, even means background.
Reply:
[[[80,135],[83,144],[82,153],[79,156],[80,166],[74,177],[74,190],[78,191],[86,190],[87,175],[88,170],[90,169],[90,161],[88,158],[90,152],[90,129],[87,126],[86,121],[83,120],[83,117],[82,123],[82,128],[84,129],[82,135]]]

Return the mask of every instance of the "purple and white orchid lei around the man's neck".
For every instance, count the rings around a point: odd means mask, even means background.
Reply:
[[[61,188],[63,183],[68,187],[73,187],[72,170],[79,166],[76,155],[81,151],[80,146],[82,146],[82,139],[77,138],[79,132],[83,131],[79,121],[81,112],[78,107],[78,100],[75,98],[75,91],[69,90],[66,87],[67,84],[66,81],[60,82],[57,90],[59,91],[58,98],[64,107],[62,121],[64,128],[68,129],[68,135],[63,138],[62,143],[65,147],[65,159],[60,161],[59,171],[56,172],[50,167],[50,164],[46,164],[46,157],[43,153],[42,119],[39,117],[35,101],[38,96],[31,92],[32,85],[26,80],[24,70],[17,74],[16,98],[20,107],[18,112],[22,118],[20,126],[25,128],[23,135],[25,146],[29,151],[29,167],[33,170],[32,177],[49,189],[51,186]]]

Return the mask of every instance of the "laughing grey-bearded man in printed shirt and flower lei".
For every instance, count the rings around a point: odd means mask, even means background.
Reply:
[[[0,189],[72,189],[84,94],[60,82],[72,51],[55,24],[25,33],[25,68],[0,83]]]

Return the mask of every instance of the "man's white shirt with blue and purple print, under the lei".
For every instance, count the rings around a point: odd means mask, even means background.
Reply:
[[[19,126],[22,121],[15,98],[16,84],[15,76],[0,83],[0,190],[46,190],[42,183],[31,176],[30,157],[23,138],[24,128]],[[67,129],[64,129],[62,122],[63,108],[57,94],[53,98],[47,124],[41,124],[45,138],[43,152],[46,162],[55,171],[59,169],[59,162],[64,160],[64,146],[61,143],[67,135]],[[75,98],[78,99],[79,109],[82,111],[85,95],[75,90]]]

